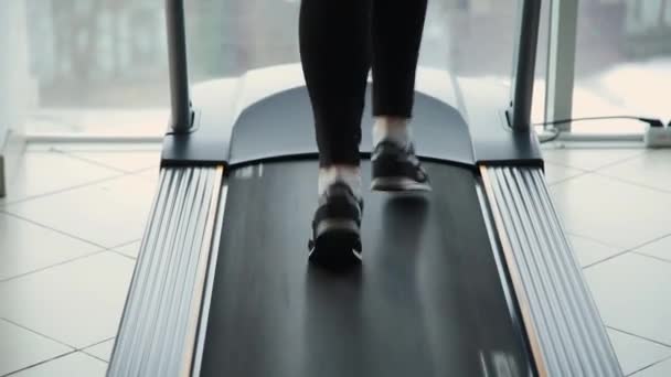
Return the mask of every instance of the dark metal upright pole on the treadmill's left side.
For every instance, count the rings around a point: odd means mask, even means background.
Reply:
[[[166,0],[166,23],[168,26],[168,63],[170,67],[171,126],[175,132],[187,132],[191,128],[192,116],[189,99],[183,0]]]

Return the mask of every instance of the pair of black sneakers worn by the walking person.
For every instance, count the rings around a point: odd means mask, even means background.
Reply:
[[[387,192],[430,191],[426,171],[415,154],[413,143],[401,147],[382,140],[371,157],[371,190]],[[309,259],[328,266],[361,261],[361,219],[363,200],[344,182],[330,185],[319,197],[312,219]]]

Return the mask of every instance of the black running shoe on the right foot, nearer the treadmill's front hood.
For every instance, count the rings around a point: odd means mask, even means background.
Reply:
[[[376,191],[430,191],[428,174],[415,155],[415,148],[406,148],[383,140],[371,157],[373,176],[371,190]]]

